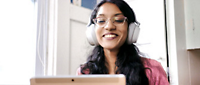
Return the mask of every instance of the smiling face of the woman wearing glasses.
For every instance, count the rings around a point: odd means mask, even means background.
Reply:
[[[119,50],[127,38],[128,24],[126,19],[123,24],[118,24],[118,22],[120,22],[119,20],[122,21],[122,19],[125,18],[123,13],[115,4],[104,3],[97,12],[96,19],[97,18],[100,23],[102,19],[105,21],[105,25],[96,25],[95,32],[99,44],[104,49]]]

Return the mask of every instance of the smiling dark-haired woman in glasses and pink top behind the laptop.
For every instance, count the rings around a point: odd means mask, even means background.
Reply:
[[[89,38],[89,42],[96,46],[77,74],[124,74],[127,85],[169,85],[160,63],[142,58],[132,44],[135,40],[129,39],[131,33],[136,36],[132,32],[135,23],[133,10],[123,0],[100,2],[88,28],[94,30],[89,37],[96,39]]]

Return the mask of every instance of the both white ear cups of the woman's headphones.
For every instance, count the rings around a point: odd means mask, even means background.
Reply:
[[[137,42],[138,35],[139,35],[139,24],[136,22],[130,23],[129,28],[128,28],[128,38],[127,38],[127,43],[128,44],[133,44]],[[96,34],[95,34],[95,25],[91,24],[90,26],[87,27],[86,30],[86,37],[90,45],[92,46],[97,46],[99,45]]]

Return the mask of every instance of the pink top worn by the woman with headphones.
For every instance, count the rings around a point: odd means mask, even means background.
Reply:
[[[144,67],[149,68],[146,70],[149,85],[169,85],[167,75],[160,62],[148,58],[142,58],[142,60],[144,62]],[[81,75],[80,68],[78,68],[76,74]]]

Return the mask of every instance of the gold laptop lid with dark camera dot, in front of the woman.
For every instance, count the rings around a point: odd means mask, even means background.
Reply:
[[[122,74],[43,76],[31,78],[30,85],[126,85],[126,79]]]

